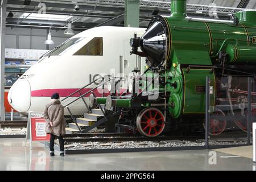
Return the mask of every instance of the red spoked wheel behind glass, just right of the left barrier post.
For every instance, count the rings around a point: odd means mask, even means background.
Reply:
[[[221,110],[217,110],[213,114],[213,118],[210,119],[210,126],[209,126],[209,133],[210,135],[216,136],[220,135],[223,133],[223,131],[226,128],[226,119],[225,119],[225,114]],[[216,117],[216,118],[215,118]],[[220,119],[220,118],[223,119]]]

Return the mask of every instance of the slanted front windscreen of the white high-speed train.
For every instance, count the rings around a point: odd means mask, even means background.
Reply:
[[[61,53],[67,51],[69,48],[73,47],[75,44],[79,43],[82,39],[84,38],[68,39],[64,43],[60,44],[60,46],[53,48],[52,51],[48,52],[43,57],[60,55]]]

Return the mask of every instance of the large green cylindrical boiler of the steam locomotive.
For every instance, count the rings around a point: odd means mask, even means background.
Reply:
[[[170,36],[168,37],[170,40],[171,52],[170,60],[168,61],[169,65],[175,63],[175,59],[178,59],[177,54],[180,55],[179,52],[189,53],[185,50],[207,51],[210,60],[214,63],[215,61],[218,61],[218,52],[224,51],[228,44],[234,46],[237,44],[237,46],[256,47],[256,42],[253,44],[253,39],[256,41],[255,28],[246,27],[242,22],[236,26],[234,23],[207,22],[202,20],[175,18],[172,16],[166,16],[164,19],[170,30]],[[225,40],[226,43],[222,46]],[[222,49],[220,49],[221,46]],[[200,55],[203,55],[204,57],[207,56],[206,53],[200,53]],[[200,56],[198,57],[199,61],[191,60],[187,62],[190,62],[189,64],[203,62],[204,59],[200,59]],[[209,61],[207,61],[207,64],[208,63]]]

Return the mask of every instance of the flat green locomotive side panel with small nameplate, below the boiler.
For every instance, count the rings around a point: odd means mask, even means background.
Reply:
[[[205,113],[205,78],[210,77],[210,105],[215,101],[215,75],[210,69],[182,69],[184,75],[183,114]],[[212,97],[213,96],[213,97]]]

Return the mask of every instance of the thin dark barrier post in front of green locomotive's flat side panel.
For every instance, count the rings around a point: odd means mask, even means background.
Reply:
[[[209,148],[209,121],[210,121],[210,77],[206,77],[205,84],[205,147]]]

